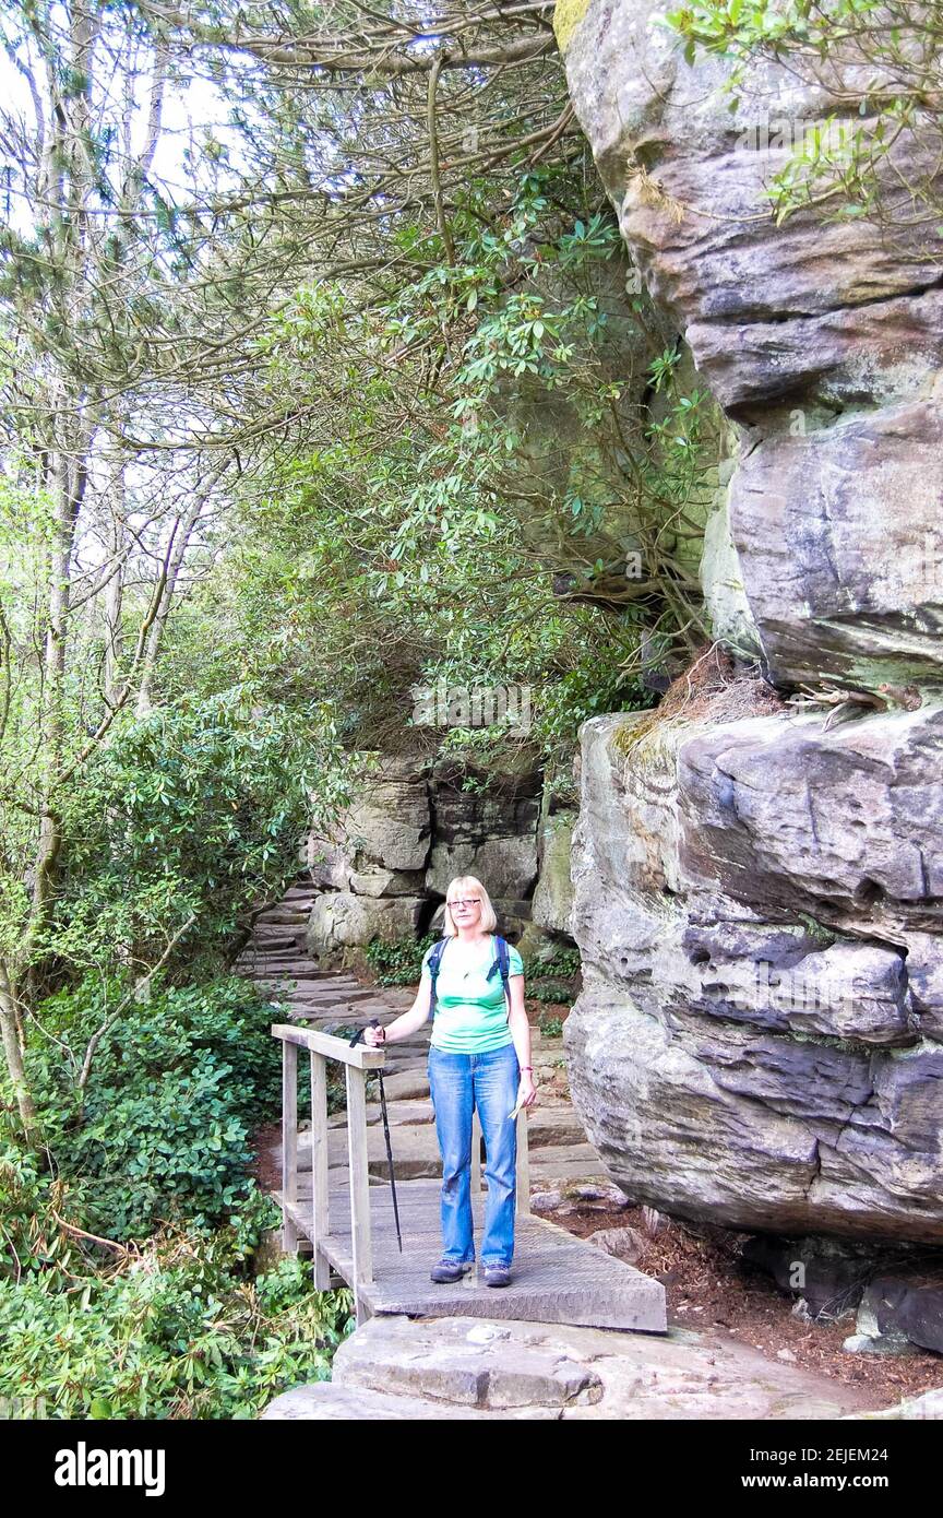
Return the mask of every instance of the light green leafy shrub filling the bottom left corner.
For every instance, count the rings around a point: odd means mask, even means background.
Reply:
[[[249,1274],[270,1198],[255,1189],[215,1234],[161,1234],[70,1290],[0,1280],[0,1397],[47,1418],[255,1418],[279,1392],[327,1380],[352,1293],[314,1292],[296,1257]]]

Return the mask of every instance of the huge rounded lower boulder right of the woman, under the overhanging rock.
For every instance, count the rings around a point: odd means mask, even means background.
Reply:
[[[612,1178],[738,1228],[943,1242],[943,710],[638,723],[584,726],[573,842],[564,1040]]]

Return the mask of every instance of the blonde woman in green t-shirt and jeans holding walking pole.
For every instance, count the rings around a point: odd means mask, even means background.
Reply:
[[[429,1090],[443,1157],[443,1257],[434,1281],[461,1281],[475,1264],[472,1228],[472,1113],[478,1108],[485,1140],[488,1201],[481,1261],[485,1286],[506,1286],[514,1257],[517,1169],[515,1107],[537,1101],[531,1066],[531,1025],[525,1011],[523,962],[508,946],[508,996],[497,965],[497,918],[481,880],[458,876],[446,893],[444,950],[435,982],[429,1041]],[[423,958],[418,994],[408,1013],[385,1028],[367,1028],[368,1044],[408,1038],[432,1005],[429,959]],[[491,972],[491,973],[488,973]],[[509,1005],[508,1005],[509,1002]]]

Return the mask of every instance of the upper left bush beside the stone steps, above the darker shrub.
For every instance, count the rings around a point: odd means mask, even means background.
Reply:
[[[77,976],[212,975],[237,920],[297,874],[297,838],[346,797],[334,707],[250,686],[123,713],[65,803],[67,870],[39,949]],[[185,926],[186,924],[186,926]]]

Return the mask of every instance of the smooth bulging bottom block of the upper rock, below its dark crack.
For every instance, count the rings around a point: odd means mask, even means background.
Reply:
[[[934,376],[926,399],[766,436],[744,455],[729,513],[779,679],[943,677],[941,407]]]

